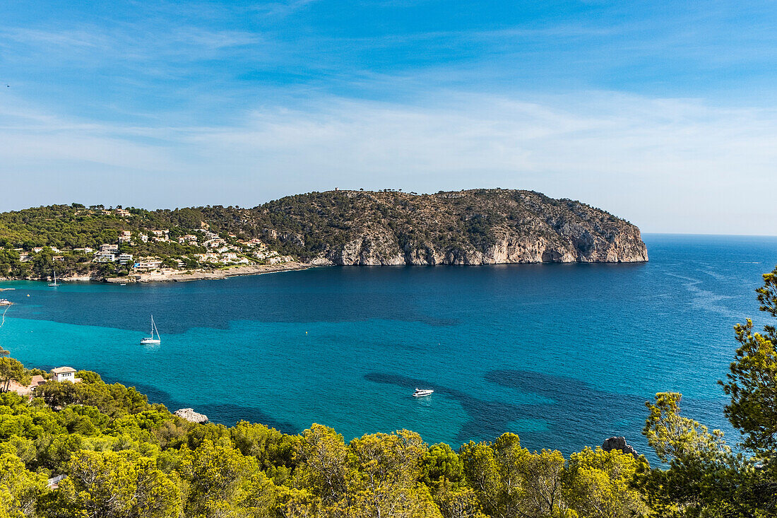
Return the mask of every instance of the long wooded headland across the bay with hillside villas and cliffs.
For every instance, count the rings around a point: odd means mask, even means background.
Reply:
[[[639,229],[533,191],[327,191],[254,208],[52,205],[0,214],[0,277],[241,264],[647,261]]]

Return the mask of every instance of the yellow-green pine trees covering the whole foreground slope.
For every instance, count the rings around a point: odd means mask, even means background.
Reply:
[[[758,300],[777,317],[777,269]],[[722,385],[740,453],[681,416],[680,394],[657,394],[655,466],[627,449],[531,452],[513,433],[452,448],[408,430],[346,442],[315,424],[195,424],[96,373],[41,380],[0,349],[0,518],[777,516],[777,330],[747,320],[736,339]],[[33,376],[33,397],[6,391]]]

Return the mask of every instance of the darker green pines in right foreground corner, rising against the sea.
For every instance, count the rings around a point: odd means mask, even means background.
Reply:
[[[764,281],[756,290],[761,310],[777,317],[777,268]],[[754,332],[749,319],[734,331],[739,347],[720,383],[743,451],[733,453],[723,433],[682,417],[680,394],[657,394],[644,432],[668,469],[639,468],[636,487],[660,516],[777,515],[777,333],[772,325]]]

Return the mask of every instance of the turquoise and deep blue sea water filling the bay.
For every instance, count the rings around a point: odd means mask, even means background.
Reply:
[[[516,432],[565,453],[625,435],[644,402],[685,395],[730,429],[716,385],[733,324],[764,322],[754,289],[768,237],[646,236],[646,264],[316,268],[162,285],[4,282],[0,345],[27,366],[69,365],[172,410],[346,439],[412,429],[459,444]],[[29,297],[27,295],[30,295]],[[162,345],[139,345],[153,313]],[[410,397],[431,387],[431,397]],[[733,439],[736,439],[734,436]]]

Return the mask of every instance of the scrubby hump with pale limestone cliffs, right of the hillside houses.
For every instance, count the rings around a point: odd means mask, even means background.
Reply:
[[[313,264],[647,261],[636,226],[533,191],[330,191],[253,211],[270,246]]]

